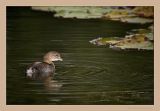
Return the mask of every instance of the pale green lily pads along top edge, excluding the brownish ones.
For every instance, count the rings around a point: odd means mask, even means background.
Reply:
[[[37,7],[33,6],[33,10],[54,12],[54,17],[90,19],[102,18],[104,13],[109,12],[110,7],[92,7],[92,6],[51,6]]]

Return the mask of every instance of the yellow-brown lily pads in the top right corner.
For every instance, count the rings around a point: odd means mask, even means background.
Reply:
[[[103,17],[110,20],[118,20],[127,23],[152,23],[153,7],[135,7],[133,9],[113,9]]]

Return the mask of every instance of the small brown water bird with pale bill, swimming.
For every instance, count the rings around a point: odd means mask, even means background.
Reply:
[[[60,54],[56,51],[50,51],[43,57],[43,62],[34,62],[27,70],[27,77],[32,79],[44,79],[52,76],[55,72],[53,61],[63,61]]]

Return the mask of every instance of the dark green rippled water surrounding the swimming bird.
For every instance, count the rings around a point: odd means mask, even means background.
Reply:
[[[88,42],[146,26],[7,8],[7,104],[153,104],[153,51],[115,51]],[[26,79],[26,67],[51,50],[64,59],[55,63],[54,79]]]

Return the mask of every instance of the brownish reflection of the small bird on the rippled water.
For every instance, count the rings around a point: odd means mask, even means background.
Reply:
[[[49,73],[38,73],[32,74],[33,76],[27,76],[27,78],[35,81],[40,82],[44,85],[47,91],[58,91],[62,87],[62,84],[56,80],[53,80],[53,74]],[[49,76],[48,76],[49,75]]]

